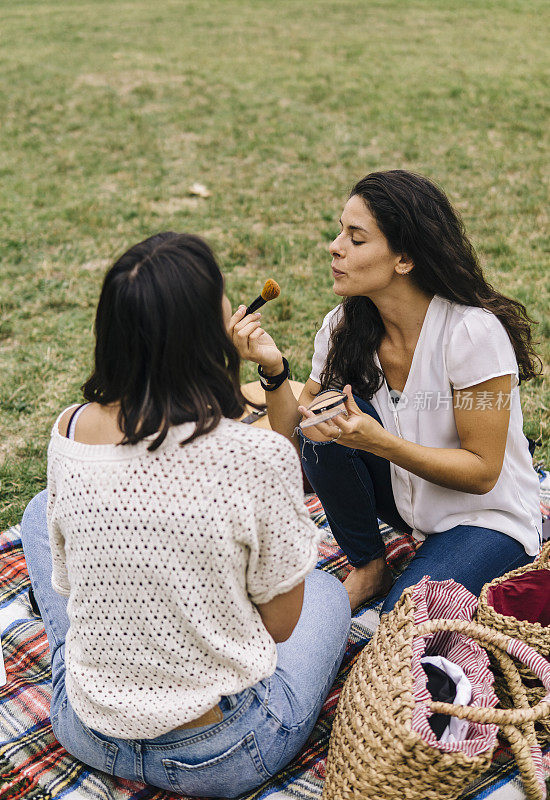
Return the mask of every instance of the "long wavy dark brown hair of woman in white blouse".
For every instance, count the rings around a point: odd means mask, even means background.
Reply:
[[[506,328],[516,354],[520,381],[539,375],[542,364],[533,349],[527,310],[487,282],[464,225],[435,184],[405,170],[372,172],[351,190],[362,197],[394,253],[406,254],[411,278],[427,294],[453,303],[486,308]],[[370,400],[383,374],[374,361],[384,334],[378,309],[368,297],[346,297],[343,314],[331,336],[321,373],[323,388],[351,384]]]

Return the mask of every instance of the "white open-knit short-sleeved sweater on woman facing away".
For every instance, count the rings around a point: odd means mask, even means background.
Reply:
[[[296,451],[223,419],[181,447],[87,445],[54,425],[52,584],[68,595],[69,700],[89,727],[154,738],[273,673],[257,603],[314,567]]]

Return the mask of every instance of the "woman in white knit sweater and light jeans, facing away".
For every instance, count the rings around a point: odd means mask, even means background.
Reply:
[[[21,531],[55,735],[92,767],[186,795],[236,796],[293,758],[350,624],[342,584],[313,569],[294,447],[237,421],[235,323],[198,237],[125,253],[88,402],[56,421]]]

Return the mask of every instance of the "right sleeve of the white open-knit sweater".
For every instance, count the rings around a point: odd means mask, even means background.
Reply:
[[[247,531],[247,590],[253,603],[289,592],[318,560],[319,529],[304,503],[298,455],[277,437],[276,453],[257,471],[257,514]]]

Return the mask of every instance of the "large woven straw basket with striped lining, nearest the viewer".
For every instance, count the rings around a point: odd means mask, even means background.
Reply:
[[[412,642],[436,631],[456,631],[492,652],[521,649],[550,692],[550,666],[530,648],[466,620],[431,620],[415,625],[411,589],[382,621],[362,650],[342,689],[332,729],[323,800],[454,800],[485,772],[495,745],[477,756],[444,752],[411,728],[415,708]],[[537,663],[534,664],[533,661]],[[510,656],[502,665],[517,697],[515,709],[459,706],[431,701],[434,713],[500,726],[509,740],[528,800],[545,797],[542,760],[534,721],[550,718],[550,702],[530,708]],[[550,697],[549,697],[550,701]]]

